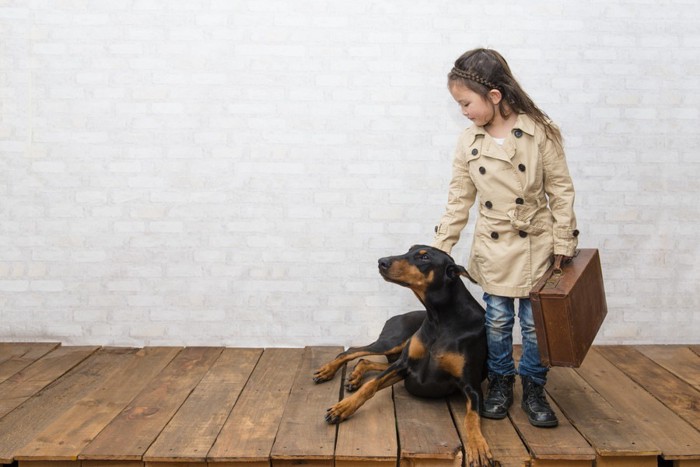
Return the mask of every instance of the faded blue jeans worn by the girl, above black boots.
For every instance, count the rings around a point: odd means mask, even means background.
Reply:
[[[513,324],[515,323],[515,299],[484,294],[486,302],[486,340],[488,342],[487,366],[489,374],[515,375],[513,360]],[[529,299],[518,299],[518,317],[523,337],[523,356],[517,373],[529,376],[537,384],[547,382],[548,369],[542,366],[537,348],[535,321]]]

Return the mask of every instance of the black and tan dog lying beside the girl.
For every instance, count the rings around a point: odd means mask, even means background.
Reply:
[[[460,279],[466,270],[447,253],[417,245],[404,255],[380,259],[379,272],[387,281],[410,288],[426,309],[389,319],[377,341],[351,347],[316,371],[314,380],[320,383],[355,358],[380,354],[389,360],[360,360],[348,377],[349,390],[358,388],[366,371],[381,373],[328,409],[326,420],[342,422],[377,391],[401,380],[411,394],[422,397],[461,391],[467,397],[467,465],[494,465],[479,417],[486,362],[484,309]]]

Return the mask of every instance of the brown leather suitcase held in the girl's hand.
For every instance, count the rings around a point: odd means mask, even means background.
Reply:
[[[535,333],[545,366],[579,367],[608,313],[600,255],[576,250],[530,291]]]

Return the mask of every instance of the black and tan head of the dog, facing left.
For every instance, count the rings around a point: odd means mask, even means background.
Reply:
[[[408,287],[422,301],[429,289],[444,288],[467,275],[450,255],[426,245],[414,245],[407,253],[379,260],[379,273],[395,284]]]

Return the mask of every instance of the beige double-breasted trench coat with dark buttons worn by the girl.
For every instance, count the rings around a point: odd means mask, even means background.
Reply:
[[[478,195],[467,270],[486,293],[527,297],[554,254],[574,254],[578,230],[566,158],[530,117],[518,116],[502,146],[482,127],[466,129],[452,170],[433,246],[451,252]]]

